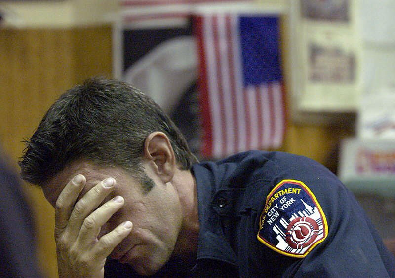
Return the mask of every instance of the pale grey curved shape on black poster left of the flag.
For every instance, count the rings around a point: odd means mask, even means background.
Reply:
[[[196,42],[192,36],[167,40],[124,73],[123,80],[153,98],[167,113],[197,79]]]

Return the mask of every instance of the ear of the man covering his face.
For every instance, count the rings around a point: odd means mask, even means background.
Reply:
[[[144,158],[149,161],[155,174],[158,174],[164,183],[173,178],[176,158],[166,134],[157,131],[147,136],[144,143]]]

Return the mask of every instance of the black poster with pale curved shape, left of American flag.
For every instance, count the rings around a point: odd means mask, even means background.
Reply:
[[[115,77],[153,98],[200,157],[197,54],[189,6],[122,4],[113,30]]]

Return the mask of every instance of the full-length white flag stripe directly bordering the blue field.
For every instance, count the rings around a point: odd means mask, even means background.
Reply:
[[[237,135],[238,145],[236,152],[240,152],[246,149],[247,145],[247,132],[245,124],[245,104],[244,104],[244,90],[242,80],[242,68],[241,68],[241,47],[240,47],[240,34],[238,29],[238,17],[232,16],[232,49],[233,49],[233,65],[234,65],[234,76],[235,79],[235,93],[236,93],[236,104],[237,104]]]

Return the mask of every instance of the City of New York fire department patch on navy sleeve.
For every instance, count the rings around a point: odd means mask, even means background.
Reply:
[[[328,234],[316,197],[301,181],[285,179],[266,198],[258,240],[286,256],[304,258]]]

